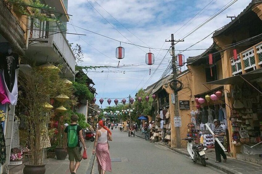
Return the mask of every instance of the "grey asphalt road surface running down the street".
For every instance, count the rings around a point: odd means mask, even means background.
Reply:
[[[119,132],[117,129],[112,132],[113,141],[109,142],[111,159],[121,160],[121,162],[112,162],[114,174],[223,173],[209,166],[204,167],[200,163],[193,164],[189,157],[164,146],[150,143],[136,136],[128,137],[127,132]],[[96,160],[92,173],[98,173]]]

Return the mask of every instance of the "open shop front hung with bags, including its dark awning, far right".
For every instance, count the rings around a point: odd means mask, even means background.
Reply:
[[[262,154],[262,69],[209,82],[230,85],[225,100],[233,156]],[[262,160],[262,158],[260,158]]]

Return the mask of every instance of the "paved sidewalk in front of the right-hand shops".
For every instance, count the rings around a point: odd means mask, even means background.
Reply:
[[[142,139],[144,139],[144,136],[141,134],[135,134],[135,136],[138,136]],[[186,155],[189,157],[188,151],[186,148],[183,149],[175,149],[170,148],[163,144],[162,142],[156,142],[159,145],[165,146],[177,153],[180,153],[182,155]],[[234,159],[231,157],[227,157],[226,163],[215,163],[216,161],[216,155],[215,152],[212,151],[206,151],[206,157],[209,158],[207,160],[207,165],[217,168],[221,170],[222,172],[228,173],[228,174],[261,174],[262,173],[262,166],[257,164],[252,164],[243,160]]]

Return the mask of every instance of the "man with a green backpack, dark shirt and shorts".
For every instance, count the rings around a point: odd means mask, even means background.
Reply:
[[[87,149],[82,136],[82,127],[76,123],[77,120],[78,116],[72,115],[71,124],[68,125],[64,131],[64,150],[68,152],[68,159],[70,160],[69,168],[71,174],[76,174],[76,171],[80,166],[80,161],[82,160],[79,138],[83,144],[84,150]],[[74,160],[76,162],[75,165]]]

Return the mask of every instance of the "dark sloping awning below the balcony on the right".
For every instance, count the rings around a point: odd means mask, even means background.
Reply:
[[[235,76],[228,77],[228,78],[225,78],[225,79],[215,80],[215,81],[203,83],[203,84],[233,85],[233,84],[243,83],[243,81],[250,82],[250,81],[257,79],[257,78],[260,78],[260,77],[262,77],[262,68],[254,70],[254,71],[250,71],[246,74],[235,75]]]

